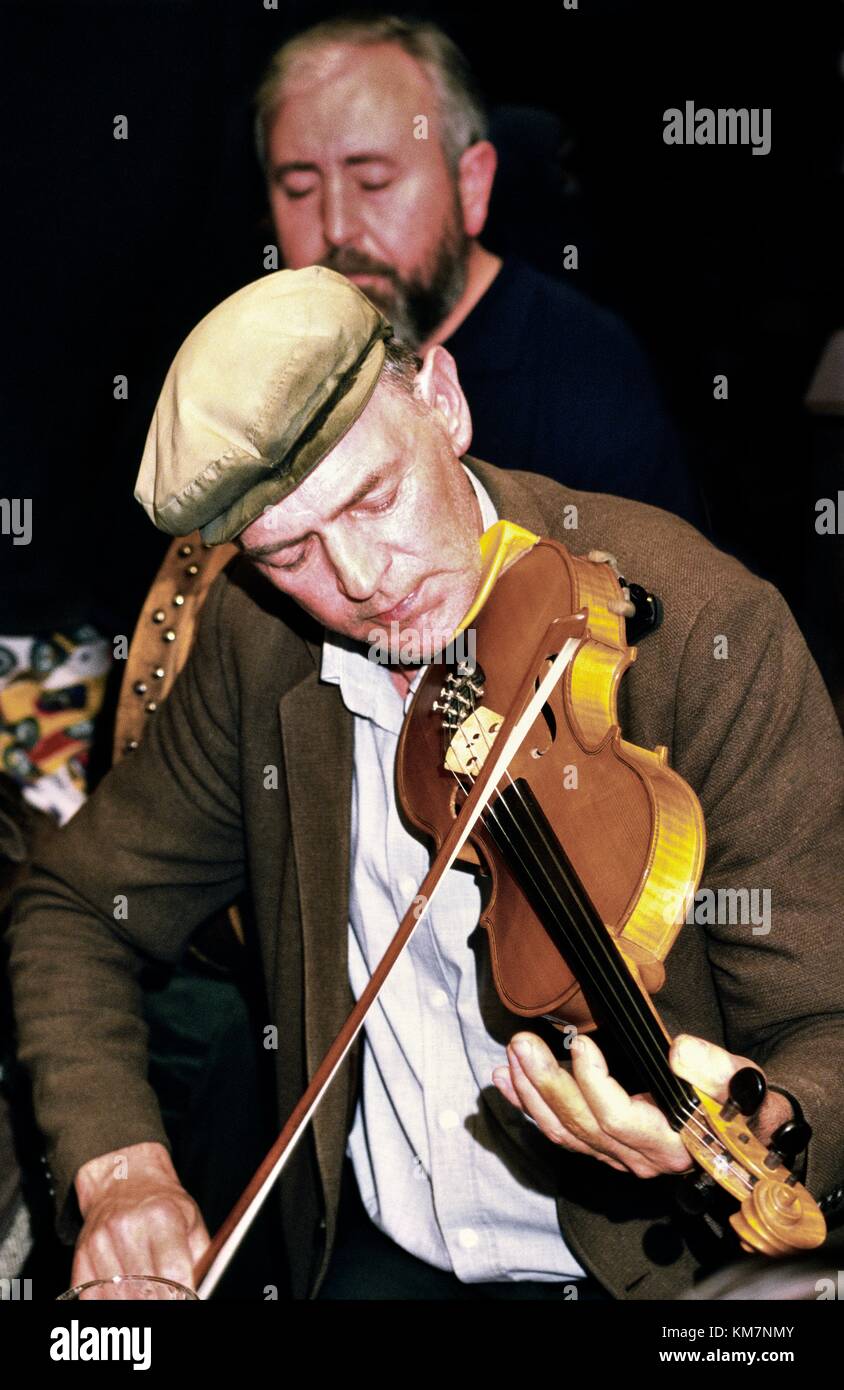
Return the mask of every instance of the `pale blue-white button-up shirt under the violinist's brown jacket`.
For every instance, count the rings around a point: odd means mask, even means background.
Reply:
[[[485,530],[498,516],[466,471]],[[387,667],[328,637],[321,678],[355,716],[349,980],[359,998],[430,866],[395,799],[413,694],[403,701]],[[495,991],[480,912],[474,873],[451,869],[367,1017],[348,1152],[373,1222],[419,1259],[464,1283],[583,1277],[558,1222],[556,1151],[492,1083],[523,1022]]]

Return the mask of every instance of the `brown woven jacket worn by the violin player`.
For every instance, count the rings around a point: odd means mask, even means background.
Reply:
[[[815,1129],[808,1186],[844,1172],[844,759],[818,670],[780,595],[677,518],[469,460],[499,516],[576,553],[612,550],[663,600],[624,676],[628,739],[666,744],[706,817],[711,888],[770,890],[772,924],[687,924],[659,1009],[673,1031],[747,1054]],[[577,506],[577,530],[563,507]],[[724,645],[726,639],[726,645]],[[726,653],[726,655],[724,655]],[[352,716],[318,680],[320,632],[247,564],[214,584],[190,659],[139,751],[58,833],[19,891],[11,970],[60,1227],[81,1163],[165,1143],[146,1080],[135,976],[249,890],[278,1102],[292,1109],[350,1005],[346,967]],[[273,790],[270,767],[279,771]],[[128,916],[115,920],[118,895]],[[346,1065],[282,1180],[296,1297],[335,1225],[356,1069]],[[616,1295],[673,1297],[698,1261],[673,1180],[559,1155],[559,1219]],[[694,1244],[694,1243],[692,1243]]]

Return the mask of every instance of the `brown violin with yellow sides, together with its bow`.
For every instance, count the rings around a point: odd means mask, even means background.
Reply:
[[[509,521],[481,537],[482,578],[455,637],[423,674],[396,755],[396,794],[434,844],[399,930],[249,1188],[195,1270],[207,1297],[331,1084],[392,965],[457,860],[488,876],[481,924],[495,987],[521,1017],[602,1036],[641,1079],[698,1165],[698,1191],[726,1190],[745,1251],[820,1245],[825,1218],[784,1163],[811,1131],[781,1126],[766,1147],[748,1119],[765,1097],[756,1068],[717,1102],[676,1076],[651,998],[698,888],[705,828],[667,749],[624,739],[617,692],[635,660],[603,563]],[[449,644],[451,646],[452,644]],[[779,1133],[779,1131],[777,1131]]]

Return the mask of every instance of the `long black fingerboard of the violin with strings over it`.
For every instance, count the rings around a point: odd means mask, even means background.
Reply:
[[[592,1017],[624,1056],[642,1090],[680,1129],[698,1097],[669,1066],[669,1040],[598,916],[528,783],[517,778],[495,802],[487,828],[534,912],[578,980]]]

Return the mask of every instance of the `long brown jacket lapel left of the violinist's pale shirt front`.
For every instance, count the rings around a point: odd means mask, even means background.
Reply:
[[[305,1040],[314,1074],[339,1033],[352,991],[348,966],[353,720],[314,670],[278,706],[302,913]],[[339,1191],[350,1104],[349,1062],[313,1120],[325,1197]]]

